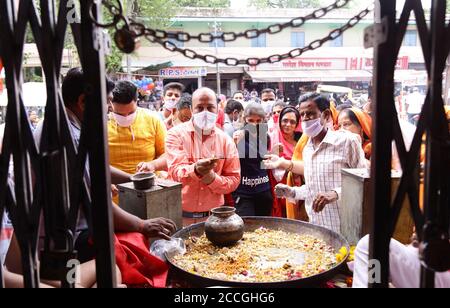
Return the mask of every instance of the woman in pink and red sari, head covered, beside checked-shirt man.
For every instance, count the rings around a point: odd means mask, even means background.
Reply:
[[[297,131],[300,125],[300,113],[294,107],[288,106],[280,113],[279,129],[270,134],[270,151],[287,160],[291,160],[294,155],[294,149],[302,136]],[[290,170],[272,170],[271,184],[275,187],[277,184],[286,184],[287,174]],[[286,200],[274,198],[272,216],[286,217]]]

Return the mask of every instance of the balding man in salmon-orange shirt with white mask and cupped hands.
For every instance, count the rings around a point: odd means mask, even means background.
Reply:
[[[207,219],[240,183],[239,154],[233,140],[215,126],[217,98],[208,88],[192,96],[191,121],[171,129],[166,139],[169,177],[183,184],[183,224]]]

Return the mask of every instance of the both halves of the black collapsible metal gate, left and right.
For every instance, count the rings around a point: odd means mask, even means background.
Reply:
[[[68,0],[0,1],[0,57],[6,70],[8,109],[0,155],[0,216],[11,215],[22,253],[26,287],[39,285],[40,276],[66,280],[67,261],[76,258],[73,234],[80,210],[88,219],[97,253],[99,287],[114,287],[115,267],[109,193],[104,38],[90,15],[99,16],[100,5],[80,0],[81,23],[70,24],[85,72],[86,110],[79,146],[70,134],[60,93],[61,58],[68,28]],[[15,4],[18,3],[18,6]],[[372,287],[389,282],[389,243],[403,200],[408,196],[422,241],[422,286],[432,287],[434,272],[449,268],[449,133],[442,101],[442,72],[450,51],[450,25],[445,21],[445,0],[433,0],[431,28],[420,0],[407,0],[396,20],[395,0],[376,0],[374,134],[372,159],[373,230],[370,256],[381,263],[381,277]],[[90,10],[93,9],[93,12]],[[429,75],[429,91],[412,147],[407,152],[394,105],[395,62],[414,11]],[[93,14],[91,14],[93,13]],[[97,17],[95,17],[97,18]],[[97,18],[100,21],[100,17]],[[38,149],[23,104],[22,68],[25,32],[29,24],[38,47],[47,84],[48,101]],[[97,24],[98,25],[98,24]],[[419,206],[418,161],[426,134],[425,202]],[[391,202],[391,143],[395,140],[403,178]],[[8,166],[14,161],[14,184]],[[84,174],[90,163],[90,183]],[[45,248],[38,269],[37,243],[41,213]],[[3,286],[0,266],[0,287]]]

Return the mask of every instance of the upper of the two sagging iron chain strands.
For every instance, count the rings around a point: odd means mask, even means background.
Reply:
[[[116,1],[117,5],[111,1]],[[131,22],[130,26],[133,27],[136,36],[153,36],[160,40],[174,39],[179,42],[189,42],[191,40],[198,40],[202,43],[211,43],[215,40],[222,40],[224,42],[233,42],[239,38],[254,39],[262,34],[277,34],[287,28],[299,28],[302,27],[307,21],[320,19],[327,15],[328,13],[343,8],[351,0],[337,0],[333,4],[327,7],[323,7],[313,11],[311,14],[304,17],[297,17],[289,22],[281,24],[273,24],[265,29],[249,29],[244,32],[234,33],[234,32],[224,32],[222,34],[214,35],[212,33],[200,33],[198,35],[192,35],[187,32],[177,31],[177,32],[167,32],[164,30],[146,29],[142,23]],[[95,20],[95,24],[99,27],[110,28],[117,26],[121,21],[125,21],[126,18],[123,16],[123,8],[120,0],[102,0],[102,5],[108,10],[108,12],[113,16],[113,21],[109,24],[99,24]],[[92,17],[92,16],[91,16]],[[117,27],[116,27],[117,28]]]

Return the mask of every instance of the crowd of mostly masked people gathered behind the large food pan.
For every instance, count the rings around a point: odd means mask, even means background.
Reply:
[[[85,110],[82,85],[80,68],[70,70],[62,85],[76,144]],[[337,109],[317,93],[286,104],[273,89],[239,91],[227,99],[209,88],[184,93],[182,84],[169,83],[163,106],[153,111],[138,107],[132,82],[108,80],[107,92],[112,183],[128,182],[138,172],[181,183],[184,226],[229,205],[242,216],[301,219],[339,233],[341,170],[370,166],[370,106]],[[41,134],[42,122],[35,130],[37,143]],[[120,202],[114,186],[111,192]],[[167,239],[177,228],[165,218],[141,220],[111,207],[116,232]],[[87,228],[78,223],[75,242],[85,264],[94,258]],[[123,274],[127,267],[117,265]]]

